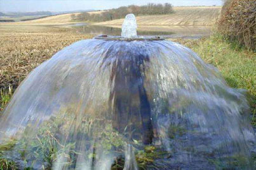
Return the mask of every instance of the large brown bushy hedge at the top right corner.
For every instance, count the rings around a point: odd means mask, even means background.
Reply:
[[[239,46],[255,50],[256,46],[256,1],[227,0],[222,7],[219,32]]]

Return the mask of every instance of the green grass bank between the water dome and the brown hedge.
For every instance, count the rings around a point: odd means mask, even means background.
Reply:
[[[256,126],[256,53],[230,43],[214,34],[201,40],[174,40],[191,48],[209,64],[217,67],[232,88],[244,88],[250,94],[252,124]]]

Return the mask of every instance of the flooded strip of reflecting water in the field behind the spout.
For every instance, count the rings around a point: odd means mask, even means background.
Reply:
[[[72,25],[76,32],[92,35],[121,35],[121,28],[77,23]],[[211,33],[210,27],[139,26],[138,35],[165,35],[165,37],[198,39]]]

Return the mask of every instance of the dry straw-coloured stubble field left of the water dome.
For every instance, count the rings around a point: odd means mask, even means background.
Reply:
[[[31,70],[65,46],[91,37],[65,28],[13,24],[0,25],[0,32],[0,111]]]

